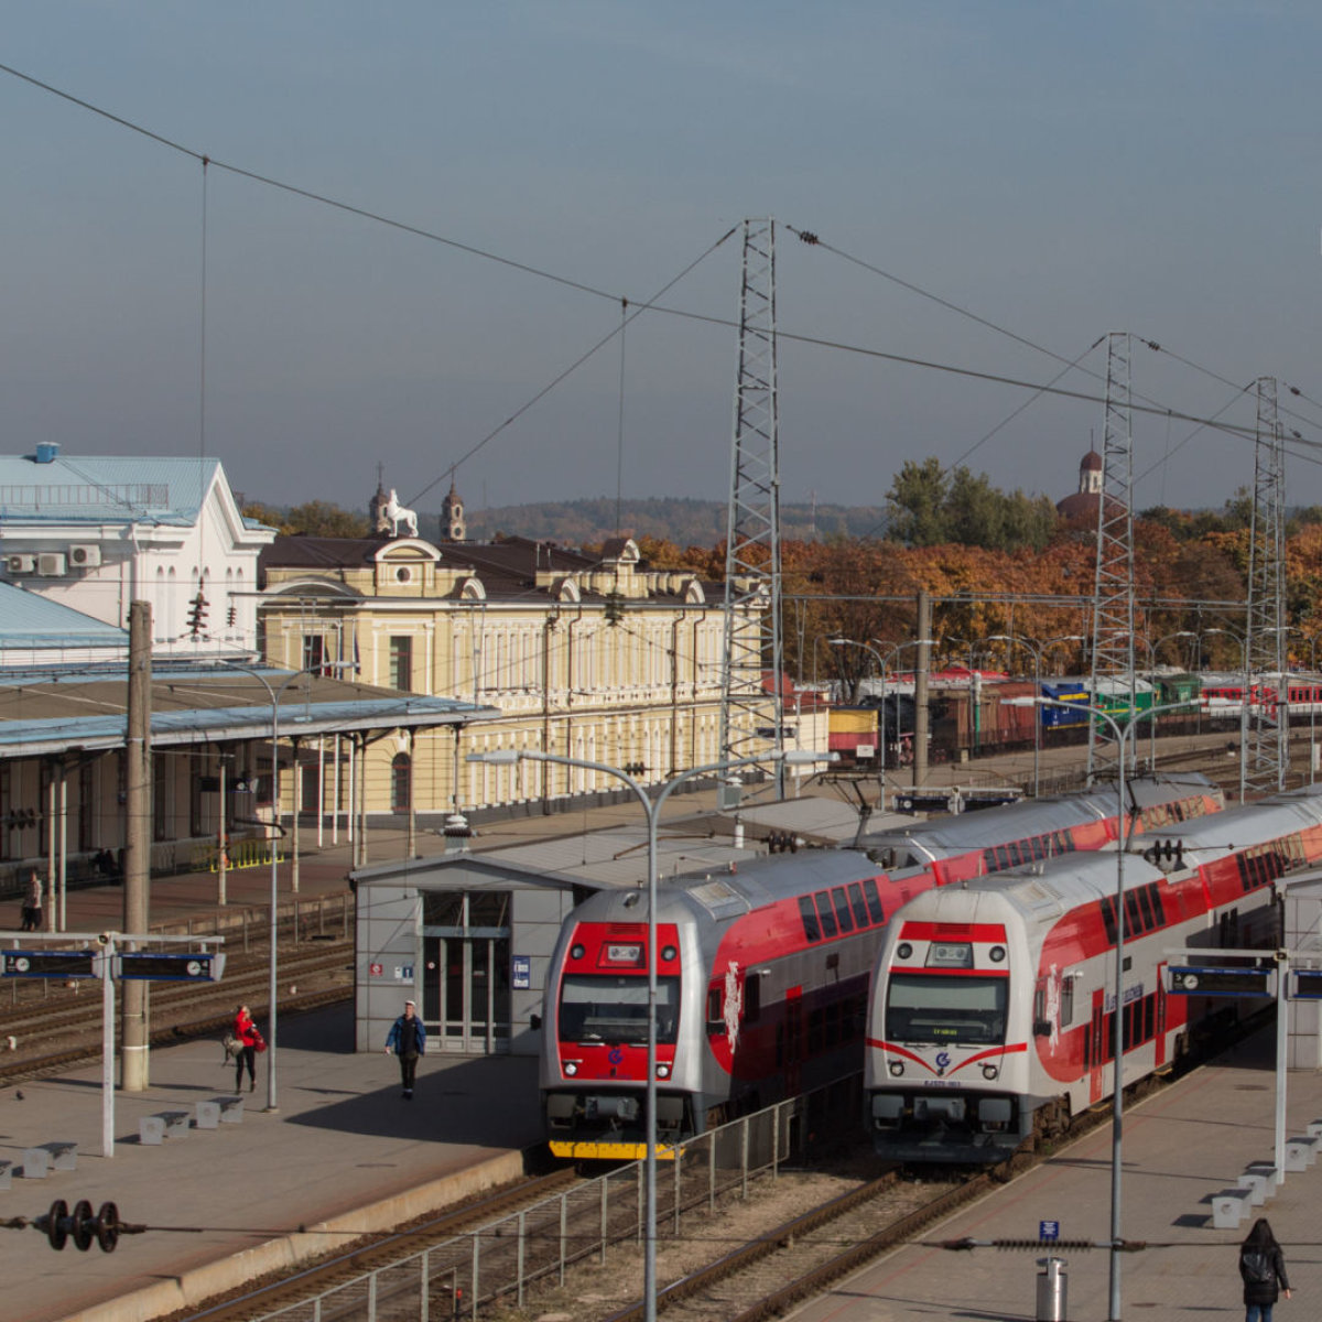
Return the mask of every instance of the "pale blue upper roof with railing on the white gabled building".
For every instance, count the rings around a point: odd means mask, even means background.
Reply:
[[[188,525],[219,469],[218,459],[169,455],[0,455],[0,522]]]

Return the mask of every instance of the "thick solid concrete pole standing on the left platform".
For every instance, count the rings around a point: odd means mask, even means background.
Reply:
[[[128,727],[124,739],[124,931],[145,932],[152,849],[152,604],[128,605]],[[148,1087],[145,980],[124,984],[126,1092]]]

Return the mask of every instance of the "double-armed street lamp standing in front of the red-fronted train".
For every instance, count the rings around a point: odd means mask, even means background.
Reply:
[[[620,767],[603,761],[590,761],[586,758],[566,758],[561,754],[541,752],[533,748],[492,748],[486,752],[471,752],[468,761],[513,765],[517,761],[555,761],[562,767],[578,767],[583,771],[596,771],[623,781],[637,796],[648,821],[648,1084],[646,1120],[644,1142],[646,1155],[642,1163],[644,1185],[644,1232],[642,1232],[642,1310],[646,1322],[656,1322],[657,1315],[657,824],[661,808],[672,792],[686,780],[698,776],[713,776],[738,767],[750,767],[769,760],[791,764],[830,761],[833,755],[818,754],[806,748],[789,748],[764,754],[760,758],[735,758],[730,761],[707,763],[703,767],[690,767],[668,780],[653,798],[646,789]]]

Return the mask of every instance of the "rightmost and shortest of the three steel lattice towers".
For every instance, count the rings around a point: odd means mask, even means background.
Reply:
[[[1240,800],[1285,788],[1290,763],[1285,635],[1285,436],[1276,407],[1276,377],[1259,377],[1240,709]],[[1276,690],[1274,710],[1268,701],[1269,687]],[[1253,691],[1257,699],[1251,702]]]

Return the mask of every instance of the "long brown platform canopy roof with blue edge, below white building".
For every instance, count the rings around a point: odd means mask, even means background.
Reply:
[[[260,669],[260,668],[254,668]],[[115,673],[118,672],[118,673]],[[496,707],[378,689],[350,680],[260,670],[279,695],[284,738],[464,726]],[[245,670],[177,664],[152,674],[152,746],[180,747],[271,736],[271,695]],[[0,759],[123,748],[128,724],[123,668],[0,674]]]

